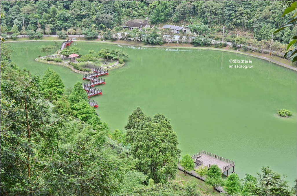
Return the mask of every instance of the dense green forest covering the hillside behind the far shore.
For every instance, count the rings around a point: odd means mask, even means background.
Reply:
[[[131,18],[149,18],[149,23],[189,25],[202,22],[213,31],[241,29],[254,32],[277,29],[293,15],[281,17],[288,1],[1,1],[5,19],[1,25],[26,30],[77,30],[92,25],[97,30],[114,28]],[[293,29],[285,34],[292,34]],[[289,30],[287,30],[289,31]],[[296,30],[295,30],[296,31]],[[284,36],[282,32],[280,37]],[[288,35],[285,35],[285,37]],[[260,35],[261,37],[261,35]],[[282,38],[277,38],[282,41]],[[287,42],[286,38],[284,38]]]

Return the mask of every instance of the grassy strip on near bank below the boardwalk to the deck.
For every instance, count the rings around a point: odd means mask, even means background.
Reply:
[[[203,181],[202,183],[200,183],[200,179],[194,176],[191,176],[190,174],[186,174],[185,176],[185,174],[179,169],[177,170],[175,180],[184,180],[184,181],[195,180],[196,183],[198,184],[201,195],[220,195],[218,191],[213,192],[212,186],[206,184]]]

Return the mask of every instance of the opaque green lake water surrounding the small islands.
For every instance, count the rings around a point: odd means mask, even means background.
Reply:
[[[82,80],[66,67],[34,61],[42,45],[53,42],[11,43],[12,59],[20,68],[43,74],[58,72],[65,86]],[[296,72],[268,61],[222,51],[146,48],[74,42],[80,54],[103,47],[130,54],[126,65],[111,70],[98,101],[99,116],[111,131],[123,129],[134,108],[146,115],[163,113],[178,135],[182,154],[201,150],[235,161],[240,177],[256,176],[262,166],[296,178]],[[252,60],[252,68],[229,68],[230,59]],[[290,118],[278,109],[293,112]]]

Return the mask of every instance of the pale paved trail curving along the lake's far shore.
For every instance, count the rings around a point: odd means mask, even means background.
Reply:
[[[10,43],[10,42],[25,42],[25,41],[61,41],[61,40],[24,40],[24,41],[6,41],[5,43]],[[263,59],[266,61],[270,61],[274,64],[277,64],[279,66],[285,67],[287,69],[293,70],[293,71],[297,71],[297,67],[292,67],[290,65],[287,65],[285,63],[281,63],[279,61],[276,61],[274,59],[269,59],[267,57],[264,56],[259,56],[259,55],[255,55],[255,54],[249,54],[249,53],[245,53],[245,52],[241,52],[241,51],[232,51],[232,50],[228,50],[228,49],[224,49],[224,48],[211,48],[211,47],[195,47],[195,46],[151,46],[151,45],[138,45],[138,44],[129,44],[129,43],[118,43],[118,42],[107,42],[107,41],[98,41],[98,40],[93,40],[93,41],[85,41],[85,40],[73,40],[73,41],[80,41],[80,42],[97,42],[97,43],[107,43],[107,44],[116,44],[116,45],[126,45],[126,46],[140,46],[140,47],[152,47],[152,48],[189,48],[189,49],[204,49],[204,50],[218,50],[218,51],[225,51],[225,52],[233,52],[233,53],[238,53],[238,54],[244,54],[244,55],[248,55],[248,56],[253,56],[259,59]]]

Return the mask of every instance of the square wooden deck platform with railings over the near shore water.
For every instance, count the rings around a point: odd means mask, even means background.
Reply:
[[[217,165],[222,170],[222,173],[227,171],[227,176],[229,174],[230,168],[233,167],[233,172],[234,172],[234,166],[235,166],[234,161],[209,153],[204,150],[193,155],[192,159],[195,163],[195,168],[199,167],[200,165],[207,166],[208,168],[212,165]]]

